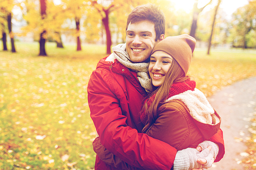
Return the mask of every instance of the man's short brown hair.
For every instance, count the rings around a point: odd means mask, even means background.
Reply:
[[[136,23],[143,20],[148,20],[155,24],[155,41],[159,40],[161,34],[165,33],[165,17],[163,12],[154,4],[138,6],[129,14],[125,30],[127,30],[130,23]]]

